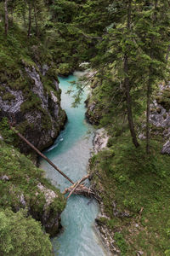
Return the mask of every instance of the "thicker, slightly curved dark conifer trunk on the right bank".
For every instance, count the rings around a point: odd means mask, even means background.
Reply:
[[[128,9],[127,9],[127,29],[130,30],[131,28],[131,0],[128,1]],[[124,55],[124,73],[126,75],[124,79],[124,88],[126,91],[126,101],[127,101],[127,119],[129,130],[131,133],[131,137],[133,138],[133,144],[136,148],[139,147],[139,143],[136,137],[136,132],[134,130],[134,123],[133,123],[133,112],[132,112],[132,100],[130,96],[130,81],[128,77],[128,56],[127,53]]]

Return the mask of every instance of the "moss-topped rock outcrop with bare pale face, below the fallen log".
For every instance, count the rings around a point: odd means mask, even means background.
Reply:
[[[14,212],[26,209],[28,215],[42,223],[50,236],[56,236],[61,227],[60,214],[66,204],[64,195],[24,154],[5,143],[0,146],[1,207],[10,207]],[[10,165],[6,159],[10,159]]]

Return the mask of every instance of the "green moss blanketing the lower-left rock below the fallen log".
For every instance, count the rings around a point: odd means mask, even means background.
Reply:
[[[57,197],[46,208],[50,212],[50,218],[56,218],[65,208],[65,198],[44,177],[44,172],[34,166],[24,154],[20,154],[13,147],[0,141],[0,177],[4,175],[8,180],[0,180],[0,207],[11,207],[14,212],[20,208],[28,207],[31,215],[42,221],[45,195],[37,188],[38,183],[46,189],[52,189]],[[20,198],[24,198],[23,204]]]

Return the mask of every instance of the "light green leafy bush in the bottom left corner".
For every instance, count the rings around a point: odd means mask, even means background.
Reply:
[[[0,253],[6,256],[50,256],[52,244],[41,225],[26,218],[26,211],[14,213],[0,209]]]

